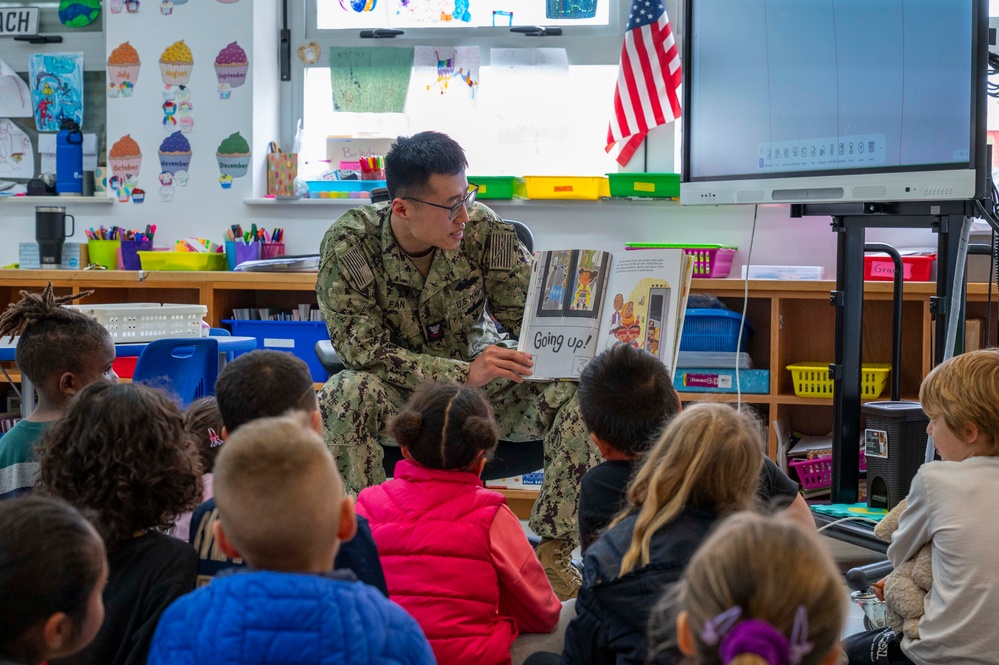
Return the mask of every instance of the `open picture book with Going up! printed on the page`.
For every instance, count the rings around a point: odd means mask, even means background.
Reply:
[[[536,253],[517,346],[534,356],[528,380],[578,379],[617,344],[645,349],[672,373],[692,266],[680,249]]]

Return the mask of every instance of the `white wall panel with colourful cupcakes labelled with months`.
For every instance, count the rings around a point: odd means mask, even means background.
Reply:
[[[253,1],[106,7],[111,195],[130,208],[164,206],[164,221],[252,196]]]

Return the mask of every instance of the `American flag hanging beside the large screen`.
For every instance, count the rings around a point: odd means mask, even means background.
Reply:
[[[607,152],[631,161],[649,130],[680,117],[680,53],[666,16],[665,0],[632,0],[614,91],[614,115],[607,128]]]

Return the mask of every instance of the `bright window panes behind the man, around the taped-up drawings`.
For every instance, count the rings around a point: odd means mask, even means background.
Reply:
[[[370,4],[391,7],[392,2],[377,0]],[[552,2],[558,4],[556,0]],[[454,21],[447,28],[411,28],[407,23],[370,20],[364,26],[358,21],[349,24],[355,28],[352,30],[321,29],[318,26],[334,24],[333,17],[337,16],[331,8],[334,3],[337,7],[351,4],[350,0],[309,0],[303,15],[292,17],[292,25],[304,26],[301,36],[292,35],[292,44],[315,41],[321,47],[321,57],[312,66],[292,58],[290,111],[294,119],[303,120],[300,168],[306,177],[337,167],[321,162],[326,158],[327,136],[395,137],[427,129],[443,131],[462,144],[472,175],[598,175],[618,170],[613,158],[604,151],[604,145],[627,0],[596,0],[594,18],[582,22],[548,20],[539,10],[538,23],[563,26],[563,36],[554,38],[513,34],[508,26],[455,28]],[[499,5],[490,0],[483,3]],[[409,4],[415,2],[411,0]],[[531,4],[545,7],[542,0],[532,0]],[[561,4],[567,3],[562,0]],[[455,3],[452,1],[450,5]],[[491,13],[489,17],[491,22]],[[516,25],[519,17],[514,18]],[[383,20],[388,19],[383,17]],[[361,39],[356,29],[398,25],[406,26],[405,34],[394,39]],[[421,82],[411,82],[403,113],[335,111],[330,48],[372,46],[478,46],[481,66],[478,86],[473,87],[474,101],[457,110],[421,103],[417,98],[419,91],[413,92],[414,86]],[[550,48],[565,50],[561,67],[553,65],[545,71],[527,68],[520,70],[523,75],[517,75],[515,68],[497,64],[500,58],[508,62],[513,55],[508,49]],[[469,94],[460,81],[449,87],[446,94],[452,92]],[[287,124],[293,125],[294,120]]]

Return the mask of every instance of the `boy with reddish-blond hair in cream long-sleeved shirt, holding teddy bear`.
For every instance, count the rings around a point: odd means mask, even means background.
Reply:
[[[995,663],[999,654],[999,529],[992,522],[999,487],[999,352],[972,351],[938,365],[919,401],[940,461],[912,479],[908,506],[888,558],[898,566],[930,543],[933,585],[923,601],[919,639],[891,628],[846,639],[850,663]],[[888,578],[890,585],[891,578]]]

